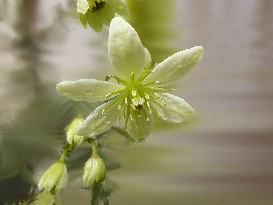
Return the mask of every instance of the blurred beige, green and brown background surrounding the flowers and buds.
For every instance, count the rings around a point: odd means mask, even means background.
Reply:
[[[196,45],[204,56],[171,87],[196,110],[194,121],[170,124],[155,116],[144,144],[105,148],[123,164],[107,173],[119,185],[110,204],[272,204],[273,2],[124,3],[125,20],[153,63]],[[56,84],[113,74],[109,27],[101,33],[82,28],[73,5],[1,1],[0,198],[19,198],[29,189],[20,181],[35,183],[61,153],[68,122],[84,112],[58,95]],[[63,204],[90,204],[77,183],[69,181]]]

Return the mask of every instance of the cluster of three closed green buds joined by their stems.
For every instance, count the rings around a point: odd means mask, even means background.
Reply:
[[[88,159],[84,166],[83,184],[84,187],[90,187],[94,184],[99,184],[106,177],[106,168],[103,160],[97,154],[95,142],[93,139],[87,136],[78,136],[75,134],[76,129],[83,123],[84,119],[82,116],[76,117],[70,124],[67,131],[68,145],[63,147],[63,154],[60,160],[54,163],[42,176],[38,183],[38,188],[52,195],[60,194],[64,191],[67,184],[67,168],[64,162],[64,158],[67,152],[73,151],[76,145],[88,141],[93,149],[93,155]]]

